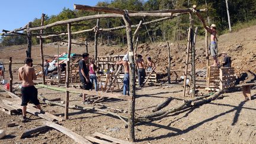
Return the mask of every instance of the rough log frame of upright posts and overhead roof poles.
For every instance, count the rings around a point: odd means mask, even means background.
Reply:
[[[194,6],[193,6],[194,7]],[[111,30],[118,30],[120,28],[126,28],[126,37],[127,37],[127,45],[128,45],[128,53],[129,53],[129,62],[130,62],[130,99],[129,99],[129,117],[128,117],[128,126],[129,126],[129,139],[130,141],[134,142],[135,141],[135,96],[136,96],[136,90],[135,90],[135,57],[134,57],[134,49],[133,49],[133,42],[135,39],[133,39],[133,34],[132,34],[132,27],[140,27],[141,25],[145,24],[150,24],[150,23],[140,23],[138,25],[132,25],[132,22],[130,21],[131,17],[165,17],[159,20],[151,21],[151,23],[157,23],[162,20],[168,20],[169,18],[176,17],[177,15],[182,15],[182,14],[190,14],[190,31],[193,31],[193,23],[192,23],[192,18],[191,18],[191,12],[194,12],[196,7],[194,9],[164,9],[164,10],[159,10],[159,11],[127,11],[124,9],[118,9],[118,8],[105,8],[105,7],[89,7],[87,5],[74,5],[75,9],[82,9],[85,11],[97,11],[97,12],[107,12],[111,14],[97,14],[97,15],[89,15],[85,17],[79,17],[79,18],[72,18],[69,20],[63,20],[63,21],[57,21],[52,24],[47,24],[43,25],[44,22],[44,14],[42,14],[41,17],[41,25],[38,27],[31,27],[31,23],[28,23],[24,27],[17,28],[12,31],[7,31],[4,30],[4,34],[1,34],[2,36],[13,36],[17,34],[24,35],[22,33],[18,33],[18,31],[27,31],[27,38],[28,38],[28,49],[27,49],[27,57],[31,57],[31,37],[34,36],[39,36],[40,38],[40,54],[42,57],[42,64],[43,64],[43,41],[41,39],[43,38],[48,38],[52,36],[60,36],[60,35],[68,35],[68,61],[67,61],[67,66],[66,66],[66,103],[65,103],[65,119],[68,119],[68,109],[69,109],[69,77],[70,77],[70,56],[71,56],[71,35],[72,34],[78,34],[78,33],[84,33],[87,31],[93,31],[95,29],[97,30],[102,30],[102,31],[111,31]],[[197,12],[203,12],[207,11],[207,9],[198,9],[196,10]],[[100,18],[122,18],[125,25],[121,27],[116,27],[116,28],[98,28],[98,23]],[[87,20],[95,20],[97,19],[97,25],[94,28],[91,28],[89,30],[83,30],[83,31],[76,31],[76,32],[71,32],[71,26],[72,23],[79,22],[79,21],[87,21]],[[46,28],[54,27],[56,25],[67,25],[68,28],[68,33],[60,33],[60,34],[43,34],[43,30]],[[31,31],[37,31],[40,30],[40,34],[32,34]],[[190,35],[190,33],[188,33]],[[48,36],[46,36],[48,35]],[[188,37],[188,45],[191,46],[193,45],[193,41],[190,39],[191,37]],[[193,46],[192,46],[193,48]],[[192,50],[194,52],[194,50]],[[97,32],[95,32],[95,59],[97,59]],[[194,65],[193,65],[194,66]],[[194,71],[195,68],[192,68]],[[192,72],[193,74],[194,72]],[[195,75],[193,75],[195,76]],[[192,77],[193,77],[192,76]],[[194,78],[193,78],[194,79]],[[44,79],[43,79],[44,82]],[[194,85],[194,82],[193,82]],[[193,87],[195,88],[195,87]],[[185,90],[185,87],[184,87]],[[194,92],[194,89],[193,89]]]

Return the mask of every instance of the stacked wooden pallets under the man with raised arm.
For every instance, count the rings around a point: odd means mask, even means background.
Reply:
[[[229,89],[235,87],[235,69],[218,68],[217,66],[208,67],[206,78],[206,90],[219,91],[220,89]]]

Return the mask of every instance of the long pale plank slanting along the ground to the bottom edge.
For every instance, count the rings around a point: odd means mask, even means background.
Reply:
[[[77,143],[91,143],[84,137],[78,135],[77,133],[72,132],[71,130],[67,129],[66,127],[60,126],[59,124],[52,123],[50,121],[43,121],[43,124],[49,127],[52,127],[53,129],[59,130],[59,132],[64,133],[65,135],[71,137],[75,142]]]

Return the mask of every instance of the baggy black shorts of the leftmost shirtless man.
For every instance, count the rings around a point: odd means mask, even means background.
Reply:
[[[37,99],[37,89],[33,86],[21,87],[21,106],[27,105],[28,102],[34,105],[39,105],[39,100]]]

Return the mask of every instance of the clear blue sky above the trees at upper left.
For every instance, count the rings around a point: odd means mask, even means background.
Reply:
[[[0,33],[23,27],[41,14],[56,15],[64,7],[73,9],[73,4],[96,5],[104,0],[1,0]]]

